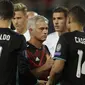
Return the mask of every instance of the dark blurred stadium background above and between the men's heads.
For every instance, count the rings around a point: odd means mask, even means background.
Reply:
[[[85,9],[85,0],[11,0],[13,3],[24,3],[28,11],[35,11],[38,14],[44,15],[49,19],[49,33],[53,32],[52,25],[52,10],[58,6],[71,8],[74,5],[80,5]]]

